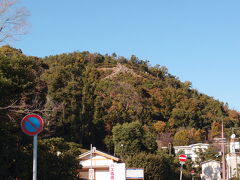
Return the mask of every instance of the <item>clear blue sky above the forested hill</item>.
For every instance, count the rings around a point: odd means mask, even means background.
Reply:
[[[90,51],[166,66],[181,81],[240,111],[239,0],[21,0],[27,55]]]

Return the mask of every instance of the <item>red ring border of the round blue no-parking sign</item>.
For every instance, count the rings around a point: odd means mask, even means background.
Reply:
[[[25,122],[31,117],[37,118],[40,123],[40,127],[35,132],[28,131],[24,126]],[[29,115],[25,116],[21,122],[21,128],[22,128],[23,132],[29,136],[35,136],[35,135],[39,134],[43,130],[43,125],[44,125],[43,119],[37,114],[29,114]]]

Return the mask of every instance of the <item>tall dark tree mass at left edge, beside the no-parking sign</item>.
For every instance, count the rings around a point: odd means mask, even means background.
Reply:
[[[27,57],[21,50],[0,48],[0,176],[3,179],[24,178],[30,138],[24,138],[20,120],[29,112],[42,112],[45,85],[39,79],[42,62]]]

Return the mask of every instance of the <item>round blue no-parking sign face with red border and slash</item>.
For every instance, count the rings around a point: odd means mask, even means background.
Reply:
[[[25,116],[21,122],[23,132],[29,136],[35,136],[43,130],[43,119],[36,114]]]

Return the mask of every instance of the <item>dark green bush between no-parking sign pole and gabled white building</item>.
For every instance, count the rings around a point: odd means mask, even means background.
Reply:
[[[40,140],[38,179],[77,179],[77,170],[81,168],[77,160],[80,154],[80,145],[65,142],[62,138]]]

